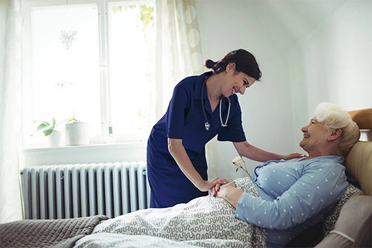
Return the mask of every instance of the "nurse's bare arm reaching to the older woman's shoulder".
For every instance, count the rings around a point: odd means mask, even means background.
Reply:
[[[271,160],[288,160],[291,158],[302,158],[304,154],[293,153],[288,155],[279,155],[272,152],[266,152],[254,145],[249,144],[247,141],[234,142],[234,147],[240,156],[245,156],[254,161],[266,162]]]

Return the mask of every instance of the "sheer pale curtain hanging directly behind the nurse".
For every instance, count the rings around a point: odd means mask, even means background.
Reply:
[[[202,48],[196,5],[193,0],[156,0],[157,57],[156,89],[162,105],[158,105],[156,116],[160,118],[167,110],[176,83],[185,76],[202,74]],[[213,143],[206,147],[209,177],[216,177]]]

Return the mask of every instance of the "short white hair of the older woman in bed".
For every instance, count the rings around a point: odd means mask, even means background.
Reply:
[[[360,130],[347,110],[334,103],[320,103],[315,110],[316,119],[327,128],[340,128],[342,134],[338,142],[338,150],[342,156],[347,156],[351,147],[359,141]]]

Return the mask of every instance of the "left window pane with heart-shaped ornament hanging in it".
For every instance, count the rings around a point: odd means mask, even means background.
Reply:
[[[35,120],[75,117],[101,134],[99,30],[95,5],[32,12],[32,110]]]

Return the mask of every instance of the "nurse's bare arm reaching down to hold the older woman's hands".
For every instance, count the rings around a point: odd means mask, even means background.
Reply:
[[[189,180],[197,187],[200,191],[206,192],[217,183],[225,184],[229,183],[228,180],[222,178],[213,178],[211,180],[203,180],[203,178],[196,172],[194,165],[187,156],[185,147],[183,147],[182,140],[176,138],[168,138],[168,149],[174,160],[180,167],[180,170],[189,178]]]

